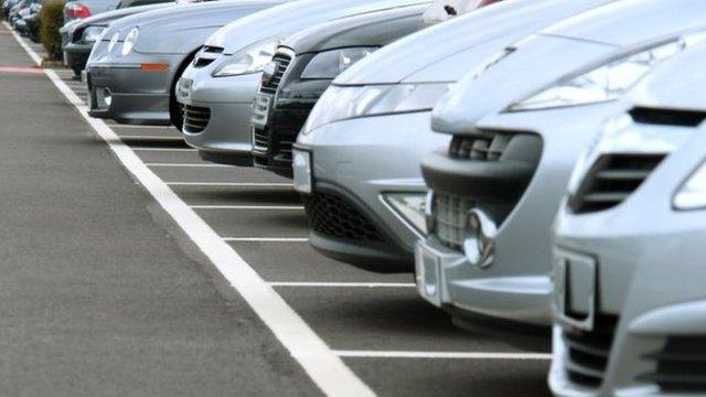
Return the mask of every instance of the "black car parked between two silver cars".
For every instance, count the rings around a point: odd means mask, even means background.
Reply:
[[[291,146],[315,101],[355,62],[419,30],[430,2],[410,3],[315,25],[280,44],[253,106],[255,165],[291,178]]]

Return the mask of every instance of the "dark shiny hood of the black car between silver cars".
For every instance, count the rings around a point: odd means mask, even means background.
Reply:
[[[351,46],[383,46],[420,29],[427,7],[397,7],[331,21],[295,34],[282,46],[292,49],[297,54]]]

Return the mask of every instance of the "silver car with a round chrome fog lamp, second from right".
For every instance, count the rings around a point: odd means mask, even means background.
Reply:
[[[681,51],[671,41],[695,43],[704,15],[700,1],[617,1],[464,78],[432,116],[451,144],[422,161],[432,198],[430,237],[416,254],[419,293],[458,323],[549,325],[549,229],[570,171],[605,116],[624,109],[616,99]]]

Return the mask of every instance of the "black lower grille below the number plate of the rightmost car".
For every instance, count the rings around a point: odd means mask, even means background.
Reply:
[[[571,383],[590,388],[600,387],[617,326],[617,316],[602,314],[597,315],[592,331],[564,330],[567,351],[565,366]]]

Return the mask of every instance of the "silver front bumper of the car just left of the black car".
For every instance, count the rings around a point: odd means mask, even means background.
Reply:
[[[176,100],[181,105],[210,114],[207,124],[199,129],[190,128],[184,119],[184,140],[205,160],[252,165],[250,106],[260,74],[213,77],[211,72],[211,67],[191,65],[178,84]]]

